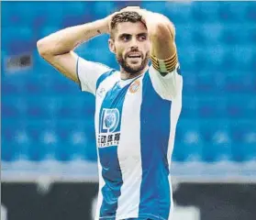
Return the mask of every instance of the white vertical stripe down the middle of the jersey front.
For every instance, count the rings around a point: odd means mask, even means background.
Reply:
[[[139,113],[142,100],[142,77],[137,81],[139,82],[139,89],[135,93],[128,91],[122,112],[122,136],[120,137],[117,153],[124,182],[118,199],[117,219],[138,217],[139,214],[139,193],[142,176],[139,148]]]

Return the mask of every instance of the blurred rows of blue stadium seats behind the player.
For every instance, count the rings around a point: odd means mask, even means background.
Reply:
[[[256,2],[138,4],[164,13],[176,27],[184,99],[173,161],[255,161]],[[42,60],[36,42],[61,28],[106,17],[120,6],[2,2],[3,163],[96,161],[93,95],[81,93],[78,85]],[[117,68],[106,40],[94,38],[77,52]],[[6,60],[22,54],[32,56],[31,67],[9,70]]]

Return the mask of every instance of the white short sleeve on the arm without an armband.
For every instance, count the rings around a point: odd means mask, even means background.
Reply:
[[[77,59],[76,73],[82,91],[95,94],[97,80],[107,71],[111,69],[102,63],[84,60],[81,57]]]

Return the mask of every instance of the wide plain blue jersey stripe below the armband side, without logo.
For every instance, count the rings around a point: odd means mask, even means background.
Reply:
[[[158,214],[168,219],[171,196],[168,142],[171,102],[161,99],[153,89],[149,73],[143,78],[140,107],[140,150],[142,181],[139,215]],[[153,135],[154,134],[154,135]],[[164,178],[162,178],[164,177]]]

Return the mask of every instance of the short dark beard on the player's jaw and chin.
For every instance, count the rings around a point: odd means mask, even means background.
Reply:
[[[145,57],[141,53],[141,63],[139,66],[136,67],[128,64],[128,55],[126,55],[124,59],[123,56],[120,54],[116,56],[116,59],[119,65],[124,69],[124,71],[128,72],[131,75],[135,75],[139,73],[139,71],[142,71],[148,65],[150,61],[150,52],[147,52]]]

